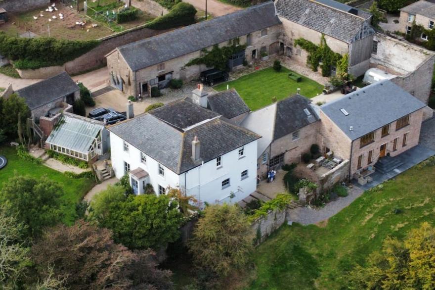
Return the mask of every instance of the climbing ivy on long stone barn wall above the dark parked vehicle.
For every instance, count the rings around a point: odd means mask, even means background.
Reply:
[[[195,64],[205,64],[207,67],[215,67],[218,70],[226,70],[228,59],[234,53],[240,52],[245,49],[244,45],[232,45],[229,47],[219,48],[217,45],[213,46],[212,50],[202,49],[203,56],[191,59],[186,66]]]

